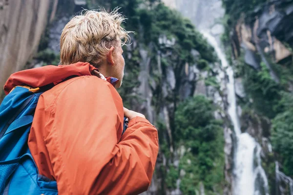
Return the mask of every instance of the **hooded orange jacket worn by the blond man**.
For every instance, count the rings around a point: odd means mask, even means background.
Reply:
[[[121,136],[122,99],[93,70],[79,62],[20,71],[4,89],[59,83],[41,95],[28,139],[40,174],[57,181],[59,195],[140,194],[154,171],[157,130],[136,117]],[[79,77],[63,81],[72,75]]]

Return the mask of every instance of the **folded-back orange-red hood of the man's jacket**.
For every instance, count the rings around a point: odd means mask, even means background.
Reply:
[[[89,63],[77,62],[70,65],[49,65],[19,71],[10,75],[4,85],[4,91],[7,95],[16,86],[27,85],[38,88],[49,84],[57,85],[70,76],[90,76],[95,70],[98,71]]]

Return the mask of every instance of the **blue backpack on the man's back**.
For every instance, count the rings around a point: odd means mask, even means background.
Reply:
[[[41,94],[19,86],[0,105],[0,195],[58,195],[57,182],[39,175],[27,144]]]

